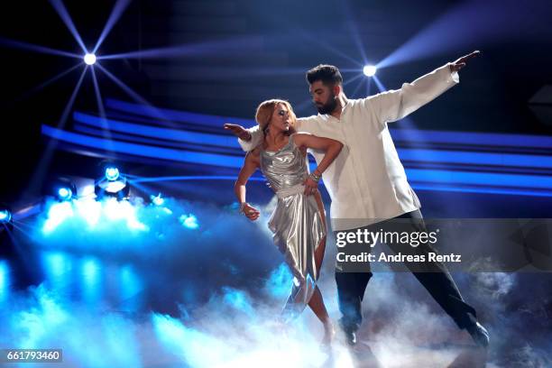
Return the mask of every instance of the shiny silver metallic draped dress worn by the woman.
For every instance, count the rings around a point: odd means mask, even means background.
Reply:
[[[326,225],[314,196],[303,194],[308,177],[307,157],[290,141],[278,152],[261,150],[261,170],[278,197],[269,221],[274,244],[284,254],[293,274],[290,297],[283,309],[284,317],[295,317],[312,297],[318,270],[315,251],[326,236]]]

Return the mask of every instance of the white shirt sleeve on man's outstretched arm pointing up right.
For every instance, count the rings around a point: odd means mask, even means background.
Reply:
[[[460,81],[457,72],[450,71],[450,63],[433,70],[400,89],[391,89],[366,97],[364,107],[379,118],[381,124],[394,122],[418,110]]]

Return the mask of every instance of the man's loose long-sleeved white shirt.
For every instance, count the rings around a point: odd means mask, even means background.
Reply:
[[[299,118],[296,129],[344,143],[336,160],[322,174],[332,199],[334,231],[377,223],[421,207],[391,139],[387,123],[397,121],[459,82],[450,64],[435,69],[400,89],[350,99],[341,118],[313,115]],[[239,140],[250,151],[262,140],[258,126],[249,129],[252,140]],[[324,152],[311,152],[317,163]]]

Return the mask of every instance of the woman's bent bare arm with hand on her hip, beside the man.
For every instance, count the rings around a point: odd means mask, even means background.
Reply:
[[[343,143],[330,138],[317,137],[311,134],[293,134],[293,140],[299,148],[312,148],[326,152],[324,158],[317,166],[317,169],[305,180],[305,194],[310,195],[318,187],[318,180],[327,167],[336,160],[337,155],[343,148]]]

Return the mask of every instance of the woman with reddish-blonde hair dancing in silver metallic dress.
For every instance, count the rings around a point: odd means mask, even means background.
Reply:
[[[245,156],[244,167],[235,182],[240,211],[252,221],[260,213],[245,201],[245,184],[253,172],[261,169],[278,197],[269,227],[274,243],[284,254],[293,273],[293,287],[284,307],[287,317],[297,315],[306,305],[324,324],[322,342],[329,344],[334,334],[322,294],[316,285],[326,249],[326,218],[320,194],[305,192],[307,180],[317,181],[336,159],[342,143],[306,133],[295,133],[295,115],[290,103],[272,99],[257,108],[255,120],[264,140]],[[307,149],[326,152],[317,169],[308,174]]]

